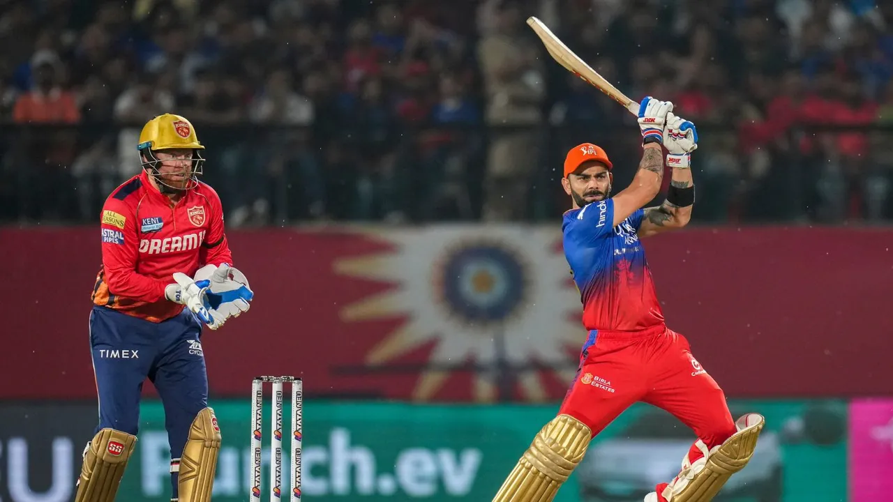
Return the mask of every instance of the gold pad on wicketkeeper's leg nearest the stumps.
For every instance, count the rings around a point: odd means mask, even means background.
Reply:
[[[210,502],[221,449],[221,429],[214,410],[204,408],[189,427],[183,455],[179,458],[179,502]]]

